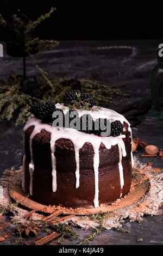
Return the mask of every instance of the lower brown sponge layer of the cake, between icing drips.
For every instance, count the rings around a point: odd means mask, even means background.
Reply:
[[[67,150],[67,154],[69,152]],[[82,162],[83,158],[80,158]],[[44,204],[62,205],[71,208],[92,208],[95,196],[95,174],[93,168],[80,169],[80,186],[76,188],[75,165],[67,168],[70,159],[57,160],[57,191],[52,191],[52,172],[48,169],[35,166],[33,174],[33,198]],[[72,159],[72,163],[73,163]],[[26,157],[26,191],[30,193],[30,159]],[[98,188],[99,204],[110,203],[121,194],[124,196],[129,192],[131,184],[131,161],[126,157],[122,159],[124,185],[121,190],[120,173],[117,163],[99,168]],[[64,170],[64,172],[63,172]]]

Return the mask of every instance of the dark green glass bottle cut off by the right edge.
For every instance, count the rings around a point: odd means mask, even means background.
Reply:
[[[152,115],[163,118],[163,57],[152,72]]]

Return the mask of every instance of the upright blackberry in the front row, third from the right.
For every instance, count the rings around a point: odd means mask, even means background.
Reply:
[[[84,114],[80,117],[81,131],[92,133],[94,130],[94,122],[90,114]]]

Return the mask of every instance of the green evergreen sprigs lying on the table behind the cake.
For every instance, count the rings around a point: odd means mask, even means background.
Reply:
[[[40,68],[42,76],[37,78],[37,82],[41,88],[45,90],[42,100],[36,99],[28,94],[20,92],[20,84],[13,77],[5,78],[0,81],[0,120],[11,120],[14,112],[18,109],[18,117],[16,125],[26,123],[26,121],[33,117],[30,113],[29,105],[33,100],[45,103],[48,100],[54,103],[62,103],[65,92],[71,90],[71,86],[65,86],[67,79],[60,77],[48,78],[46,72]],[[93,94],[96,106],[108,105],[112,99],[117,95],[123,95],[120,89],[112,88],[111,86],[93,80],[80,80],[83,91],[86,94]],[[105,90],[105,97],[103,95]],[[93,93],[92,93],[93,92]]]

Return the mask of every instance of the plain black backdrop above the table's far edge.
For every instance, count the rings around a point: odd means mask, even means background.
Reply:
[[[109,3],[107,3],[109,2]],[[0,13],[5,19],[20,8],[31,19],[37,19],[57,7],[51,18],[37,28],[41,39],[112,40],[162,39],[161,1],[1,1]],[[5,33],[0,28],[0,41]]]

